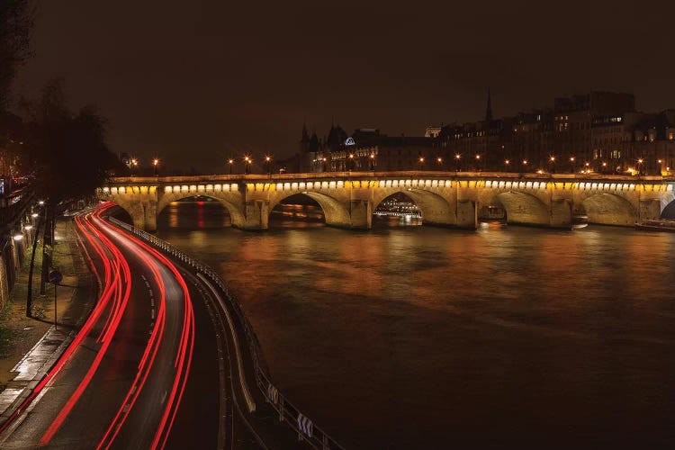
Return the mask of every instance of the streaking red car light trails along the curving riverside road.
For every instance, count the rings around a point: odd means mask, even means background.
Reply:
[[[40,446],[49,445],[58,433],[59,428],[64,425],[65,420],[76,407],[83,393],[90,387],[90,383],[100,365],[102,365],[109,347],[117,338],[121,321],[125,320],[124,312],[128,309],[128,305],[130,302],[137,302],[138,300],[131,295],[134,277],[131,276],[130,264],[125,257],[125,253],[127,253],[136,257],[142,267],[147,269],[150,276],[146,284],[151,281],[154,286],[157,286],[157,317],[155,317],[155,304],[153,302],[152,329],[148,342],[139,358],[135,377],[126,390],[126,394],[116,409],[111,423],[107,425],[97,447],[107,449],[115,442],[116,437],[124,429],[125,421],[131,411],[134,410],[141,393],[144,392],[150,374],[157,374],[154,379],[157,379],[157,376],[161,377],[161,384],[162,386],[166,385],[168,396],[166,397],[166,403],[162,399],[161,403],[164,404],[160,407],[162,408],[161,413],[157,410],[157,416],[155,416],[157,419],[154,419],[156,421],[153,421],[151,428],[148,428],[147,437],[152,437],[151,448],[153,449],[163,448],[166,445],[166,440],[171,432],[183,397],[193,358],[193,305],[183,276],[169,258],[139,238],[132,236],[126,230],[113,227],[103,219],[102,215],[112,206],[112,203],[104,203],[95,211],[77,216],[75,219],[77,238],[80,242],[86,244],[82,246],[85,250],[85,257],[101,287],[99,300],[76,337],[62,356],[58,358],[58,362],[31,392],[31,396],[14,411],[10,419],[4,422],[0,427],[0,432],[7,428],[14,419],[18,418],[39,396],[40,392],[45,387],[50,386],[50,383],[62,373],[63,369],[75,357],[77,349],[84,344],[85,338],[95,338],[96,344],[100,347],[96,350],[94,361],[86,367],[85,374],[76,384],[75,390],[43,433],[40,438]],[[87,247],[94,250],[97,261],[100,261],[98,264],[103,270],[99,270],[94,264]],[[171,276],[168,274],[171,274]],[[138,279],[138,276],[135,276],[135,278]],[[172,285],[170,297],[167,294],[166,283]],[[176,324],[172,327],[172,329],[175,329],[174,334],[170,336],[166,334],[166,324],[169,320],[167,302],[172,302],[171,304],[174,305],[170,319],[172,323]],[[176,305],[180,306],[176,307]],[[176,328],[178,326],[180,330]],[[179,333],[177,333],[178,331]],[[172,354],[175,352],[175,357],[163,358],[162,365],[157,365],[157,355],[166,351],[170,351]],[[166,362],[171,365],[170,378],[166,378],[165,375]],[[157,392],[157,387],[155,388],[154,392]],[[152,398],[152,394],[145,397],[144,405],[146,405],[146,408],[148,401],[157,401],[157,394],[155,398]]]

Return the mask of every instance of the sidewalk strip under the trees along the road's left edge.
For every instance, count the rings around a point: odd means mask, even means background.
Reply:
[[[0,424],[40,383],[75,337],[95,301],[95,281],[77,247],[74,224],[59,219],[54,266],[63,274],[57,289],[58,323],[54,327],[54,286],[40,297],[41,247],[33,273],[33,318],[25,316],[31,248],[10,301],[0,315]]]

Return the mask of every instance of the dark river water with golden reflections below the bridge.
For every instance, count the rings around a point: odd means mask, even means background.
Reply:
[[[158,235],[209,263],[272,379],[347,448],[675,447],[675,234],[377,220],[216,202]]]

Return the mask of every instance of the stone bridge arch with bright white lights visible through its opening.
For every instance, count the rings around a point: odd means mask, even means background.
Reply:
[[[422,213],[422,224],[431,225],[456,225],[457,218],[453,204],[440,193],[434,193],[425,189],[404,188],[386,189],[374,194],[373,211],[387,198],[395,193],[403,193],[418,205]]]

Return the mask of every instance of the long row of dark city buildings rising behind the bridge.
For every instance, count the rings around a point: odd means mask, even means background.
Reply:
[[[289,170],[455,170],[675,175],[675,109],[638,112],[635,95],[594,91],[554,98],[552,107],[482,121],[429,126],[424,136],[351,135],[306,127]]]

